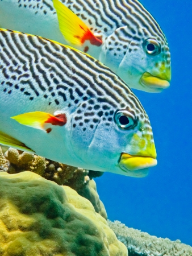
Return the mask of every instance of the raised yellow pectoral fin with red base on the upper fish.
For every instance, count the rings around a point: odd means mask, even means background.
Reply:
[[[53,0],[53,5],[57,11],[60,31],[67,41],[76,46],[81,46],[85,40],[89,40],[91,44],[101,46],[102,40],[98,39],[89,27],[68,7],[59,0]]]

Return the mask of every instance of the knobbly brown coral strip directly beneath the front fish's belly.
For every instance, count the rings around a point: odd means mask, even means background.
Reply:
[[[0,155],[0,159],[4,156]],[[32,171],[45,179],[53,180],[59,185],[70,185],[74,189],[80,189],[85,183],[85,176],[89,173],[81,168],[67,166],[45,159],[28,152],[18,151],[15,148],[9,148],[5,152],[5,158],[9,160],[9,174],[16,174],[22,171]]]

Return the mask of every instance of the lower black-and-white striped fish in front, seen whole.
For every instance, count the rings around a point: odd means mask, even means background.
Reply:
[[[147,113],[100,61],[0,29],[0,144],[93,171],[142,177],[156,166]]]

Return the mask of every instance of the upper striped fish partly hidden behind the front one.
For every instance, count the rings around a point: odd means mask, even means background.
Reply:
[[[169,88],[168,42],[137,0],[1,0],[0,25],[89,53],[130,88]]]

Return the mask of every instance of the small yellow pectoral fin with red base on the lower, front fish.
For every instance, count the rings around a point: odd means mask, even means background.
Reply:
[[[30,126],[35,129],[45,130],[44,126],[46,123],[51,123],[52,125],[65,125],[67,119],[65,114],[52,115],[45,112],[29,112],[20,115],[15,115],[11,117],[15,119],[18,123],[26,126]]]

